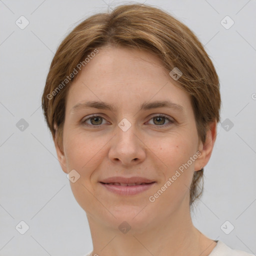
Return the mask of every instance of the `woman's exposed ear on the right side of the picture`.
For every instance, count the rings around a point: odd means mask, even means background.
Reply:
[[[197,157],[194,170],[200,170],[203,168],[210,159],[210,155],[216,140],[216,129],[217,129],[217,122],[216,120],[211,122],[208,125],[208,130],[206,132],[205,142],[202,141],[199,143],[198,150],[201,154]]]

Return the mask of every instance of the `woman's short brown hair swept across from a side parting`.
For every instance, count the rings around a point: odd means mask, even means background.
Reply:
[[[181,70],[178,86],[190,95],[198,136],[204,142],[208,124],[219,121],[220,93],[215,68],[186,25],[147,4],[123,4],[111,12],[94,14],[79,23],[61,42],[42,95],[42,109],[53,138],[55,124],[57,141],[62,144],[65,99],[74,78],[69,78],[66,86],[63,81],[95,48],[109,44],[149,50],[159,56],[166,70],[174,67]],[[203,168],[194,171],[190,205],[202,193],[199,182],[202,176]]]

